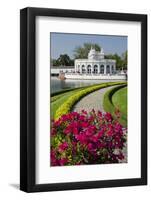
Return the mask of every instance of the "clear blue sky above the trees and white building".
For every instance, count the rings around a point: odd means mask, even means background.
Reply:
[[[121,55],[127,50],[126,36],[50,33],[51,58],[56,59],[60,54],[68,54],[73,58],[75,47],[82,46],[84,43],[100,45],[105,54]]]

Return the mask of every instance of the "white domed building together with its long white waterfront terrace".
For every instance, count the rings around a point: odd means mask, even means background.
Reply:
[[[117,73],[116,60],[105,59],[104,51],[91,47],[87,59],[75,59],[74,70],[65,73],[67,79],[125,80],[126,74]]]

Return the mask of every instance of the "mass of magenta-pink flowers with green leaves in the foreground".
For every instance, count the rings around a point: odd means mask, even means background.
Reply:
[[[119,113],[117,113],[118,119]],[[118,163],[126,133],[110,113],[82,111],[52,122],[51,166]]]

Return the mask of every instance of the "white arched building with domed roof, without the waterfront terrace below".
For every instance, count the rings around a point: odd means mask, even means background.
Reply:
[[[115,74],[116,60],[104,59],[103,49],[96,51],[91,47],[88,59],[75,60],[75,72],[79,74]]]

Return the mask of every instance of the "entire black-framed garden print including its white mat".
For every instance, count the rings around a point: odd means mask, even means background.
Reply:
[[[20,12],[20,189],[147,184],[147,16]]]

